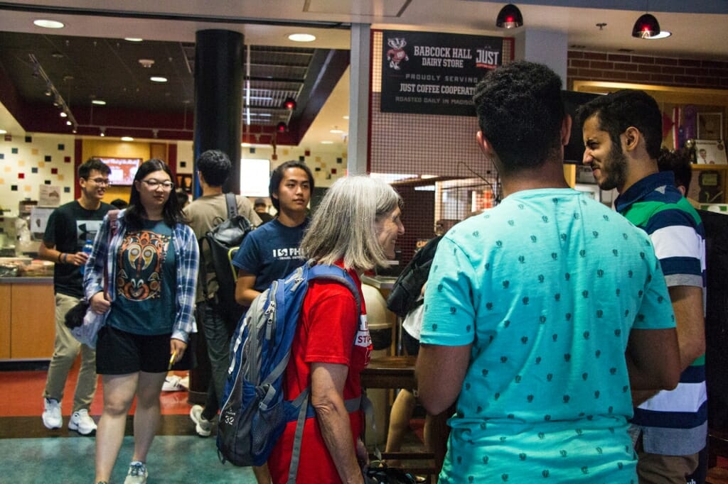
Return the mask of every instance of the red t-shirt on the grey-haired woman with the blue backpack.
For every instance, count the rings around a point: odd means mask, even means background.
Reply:
[[[336,265],[342,264],[337,262]],[[296,398],[311,384],[311,363],[347,365],[349,374],[344,384],[344,400],[361,395],[360,372],[369,363],[372,346],[361,281],[354,271],[349,270],[349,275],[359,289],[362,302],[358,321],[356,301],[346,286],[333,281],[313,281],[309,286],[285,371],[284,391],[288,400]],[[355,411],[349,414],[349,419],[356,440],[363,428],[363,414]],[[289,422],[268,459],[273,483],[288,480],[295,432],[296,422]],[[306,419],[296,481],[341,483],[315,418]]]

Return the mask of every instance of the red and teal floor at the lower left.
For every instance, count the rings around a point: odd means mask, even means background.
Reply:
[[[76,372],[75,368],[71,371],[61,404],[64,427],[48,430],[40,419],[46,371],[0,371],[0,483],[93,482],[95,437],[83,437],[66,428]],[[96,420],[102,395],[99,383],[90,411]],[[250,468],[221,464],[214,435],[197,436],[189,409],[186,392],[162,392],[162,424],[147,461],[149,483],[255,483]],[[114,483],[124,482],[132,456],[131,416],[126,435],[114,468]]]

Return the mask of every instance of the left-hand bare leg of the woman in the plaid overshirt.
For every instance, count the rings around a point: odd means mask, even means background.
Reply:
[[[96,430],[95,482],[108,481],[124,440],[127,414],[139,374],[103,376],[103,412]]]

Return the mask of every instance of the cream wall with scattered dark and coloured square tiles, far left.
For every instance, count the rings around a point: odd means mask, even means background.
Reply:
[[[0,207],[17,214],[25,199],[38,200],[41,185],[60,187],[60,203],[74,199],[74,138],[25,134],[0,138]],[[7,213],[7,212],[6,212]]]

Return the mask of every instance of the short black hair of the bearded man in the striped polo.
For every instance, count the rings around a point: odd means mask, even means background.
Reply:
[[[660,156],[662,113],[657,101],[646,92],[622,89],[579,106],[577,118],[580,126],[584,126],[584,122],[592,116],[597,116],[599,129],[609,133],[609,138],[617,146],[622,146],[620,135],[634,126],[644,137],[649,157]]]

